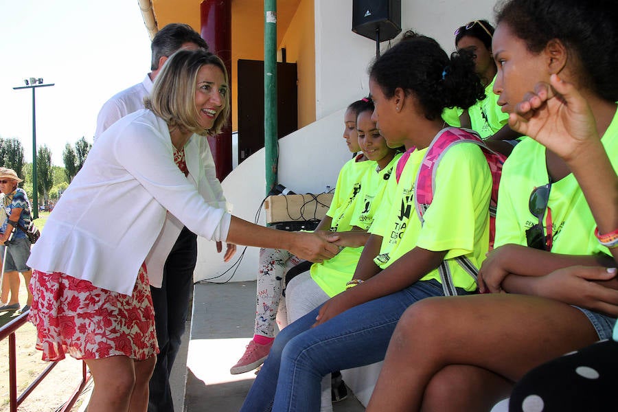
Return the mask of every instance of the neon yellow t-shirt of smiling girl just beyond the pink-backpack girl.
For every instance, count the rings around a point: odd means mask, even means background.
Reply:
[[[363,175],[361,192],[356,195],[356,209],[350,225],[368,229],[373,222],[373,216],[382,204],[382,195],[389,182],[389,176],[394,174],[394,168],[401,154],[396,155],[393,160],[382,170],[376,172],[375,169],[368,170]],[[310,273],[315,283],[324,292],[333,297],[345,290],[345,284],[352,279],[358,259],[361,258],[363,247],[345,247],[333,258],[322,263],[311,265]]]

